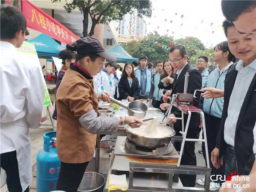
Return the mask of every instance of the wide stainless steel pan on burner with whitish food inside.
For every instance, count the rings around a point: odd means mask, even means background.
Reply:
[[[146,122],[144,123],[149,124]],[[169,145],[172,137],[175,136],[176,134],[173,128],[168,127],[166,125],[157,124],[157,127],[168,128],[168,131],[170,131],[170,134],[166,137],[147,137],[147,136],[133,133],[132,128],[129,125],[125,126],[125,131],[127,132],[128,140],[130,140],[131,143],[133,143],[135,146],[154,150],[158,147],[165,147]]]

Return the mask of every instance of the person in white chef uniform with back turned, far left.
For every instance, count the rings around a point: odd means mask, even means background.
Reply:
[[[40,126],[44,84],[40,66],[17,52],[25,40],[26,18],[14,6],[0,8],[1,168],[9,192],[29,192],[32,181],[29,128]]]

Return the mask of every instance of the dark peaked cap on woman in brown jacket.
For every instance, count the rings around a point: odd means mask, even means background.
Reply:
[[[74,50],[81,55],[96,54],[107,59],[108,61],[116,61],[115,57],[105,51],[98,39],[89,36],[75,41],[73,44],[71,44],[71,46],[68,44],[67,49]]]

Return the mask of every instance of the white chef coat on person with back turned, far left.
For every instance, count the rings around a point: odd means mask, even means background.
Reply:
[[[0,41],[1,151],[17,152],[20,183],[24,191],[32,181],[29,128],[40,126],[44,84],[40,65],[27,63],[14,45]]]

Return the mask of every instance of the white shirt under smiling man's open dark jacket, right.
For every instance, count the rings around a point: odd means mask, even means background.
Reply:
[[[237,119],[248,88],[256,73],[256,59],[247,67],[244,67],[244,61],[239,60],[236,64],[236,70],[238,73],[230,96],[230,102],[227,109],[227,119],[224,125],[224,140],[231,146],[235,146]]]

